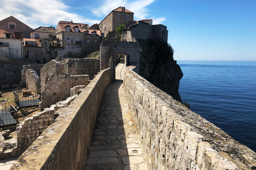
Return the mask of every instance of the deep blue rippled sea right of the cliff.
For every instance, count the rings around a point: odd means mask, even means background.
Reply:
[[[256,152],[256,62],[177,61],[182,102]]]

